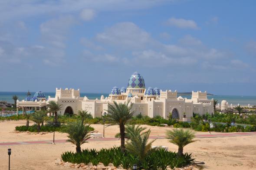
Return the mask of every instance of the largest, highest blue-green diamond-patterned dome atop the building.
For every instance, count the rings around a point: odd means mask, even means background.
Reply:
[[[138,72],[133,73],[129,78],[127,88],[145,88],[144,78]]]

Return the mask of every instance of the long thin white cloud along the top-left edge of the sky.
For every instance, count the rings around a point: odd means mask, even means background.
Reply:
[[[1,0],[0,20],[20,20],[56,11],[59,14],[79,13],[85,7],[96,11],[139,10],[163,3],[170,3],[170,0]]]

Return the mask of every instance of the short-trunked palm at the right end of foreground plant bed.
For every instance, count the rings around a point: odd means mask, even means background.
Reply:
[[[184,131],[183,129],[179,129],[179,130],[166,132],[166,138],[170,139],[171,143],[179,147],[178,153],[177,153],[178,156],[183,155],[183,147],[185,147],[187,144],[195,142],[195,140],[193,140],[194,137],[195,137],[194,132],[190,130]]]

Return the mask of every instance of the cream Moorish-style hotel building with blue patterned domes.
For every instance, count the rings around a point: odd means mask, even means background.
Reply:
[[[93,118],[107,114],[108,104],[113,105],[113,101],[117,103],[130,101],[135,116],[141,114],[151,118],[155,116],[167,118],[171,115],[179,120],[190,121],[193,112],[201,115],[213,113],[213,99],[207,99],[207,92],[192,91],[191,99],[177,97],[176,90],[146,88],[144,78],[138,72],[131,75],[126,88],[115,86],[108,96],[102,95],[100,99],[90,100],[86,96],[81,97],[79,89],[56,88],[55,97],[49,96],[46,99],[43,92],[36,92],[33,97],[28,96],[22,101],[17,101],[17,107],[35,107],[36,110],[40,110],[43,107],[47,108],[49,101],[56,101],[62,105],[59,115],[77,114],[77,111],[85,110],[92,114]]]

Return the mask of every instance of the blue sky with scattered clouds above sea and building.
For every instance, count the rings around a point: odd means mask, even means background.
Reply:
[[[0,91],[256,95],[255,0],[1,0]]]

